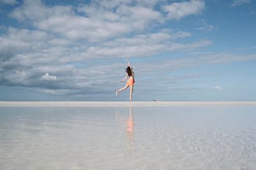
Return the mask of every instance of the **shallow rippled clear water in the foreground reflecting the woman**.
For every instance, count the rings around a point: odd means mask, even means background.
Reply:
[[[256,169],[256,106],[0,107],[0,169]]]

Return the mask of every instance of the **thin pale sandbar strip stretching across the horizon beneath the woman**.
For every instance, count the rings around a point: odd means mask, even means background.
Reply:
[[[111,107],[111,106],[230,106],[255,105],[256,101],[134,101],[134,102],[102,102],[102,101],[0,101],[0,107],[15,106],[67,106],[67,107]]]

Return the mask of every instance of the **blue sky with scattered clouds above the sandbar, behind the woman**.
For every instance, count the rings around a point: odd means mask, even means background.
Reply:
[[[254,0],[0,0],[0,101],[256,101]]]

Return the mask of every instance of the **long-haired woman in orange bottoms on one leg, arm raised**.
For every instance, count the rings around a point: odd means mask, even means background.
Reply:
[[[132,101],[133,84],[135,82],[134,73],[132,71],[132,66],[131,66],[130,62],[127,59],[126,59],[126,61],[128,62],[128,67],[125,69],[127,74],[126,74],[125,78],[121,81],[123,82],[128,76],[129,76],[129,79],[127,80],[127,83],[126,83],[125,87],[116,91],[116,96],[117,96],[118,92],[121,92],[122,90],[125,90],[128,87],[130,87],[130,97],[129,97],[129,99],[130,99],[130,101]]]

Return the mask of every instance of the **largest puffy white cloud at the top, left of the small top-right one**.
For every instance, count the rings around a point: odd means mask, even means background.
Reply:
[[[129,1],[131,3],[131,1]],[[31,21],[43,31],[61,34],[69,39],[86,39],[90,42],[100,42],[115,38],[132,31],[141,31],[154,22],[161,22],[163,16],[159,11],[145,6],[130,6],[120,3],[113,9],[103,8],[103,3],[92,2],[80,6],[78,10],[86,13],[76,15],[72,6],[45,6],[40,1],[24,1],[11,16],[20,22]]]

